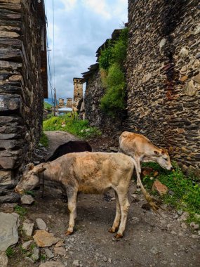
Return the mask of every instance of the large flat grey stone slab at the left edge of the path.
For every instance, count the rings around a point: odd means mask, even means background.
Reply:
[[[0,212],[0,251],[18,242],[19,215]]]

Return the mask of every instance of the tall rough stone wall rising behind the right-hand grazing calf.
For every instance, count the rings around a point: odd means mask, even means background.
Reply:
[[[197,175],[199,18],[199,0],[128,1],[127,127],[168,148]]]

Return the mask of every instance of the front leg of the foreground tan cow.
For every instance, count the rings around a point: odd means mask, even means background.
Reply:
[[[77,190],[75,190],[74,188],[70,188],[70,190],[67,190],[67,197],[69,209],[69,226],[66,235],[71,235],[74,230],[74,220],[76,219]]]

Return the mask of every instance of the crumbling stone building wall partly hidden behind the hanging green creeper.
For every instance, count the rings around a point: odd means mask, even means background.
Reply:
[[[110,42],[114,42],[119,38],[121,30],[114,30],[111,39],[107,39],[102,46],[96,51],[97,61],[101,51],[107,47]],[[91,126],[98,126],[103,133],[109,133],[113,137],[118,137],[121,128],[126,119],[126,112],[119,112],[119,116],[112,118],[100,109],[100,99],[105,94],[105,88],[102,86],[100,77],[99,63],[95,63],[88,67],[88,71],[82,73],[82,82],[86,82],[86,92],[84,102],[81,109],[84,110],[83,118],[88,119]]]

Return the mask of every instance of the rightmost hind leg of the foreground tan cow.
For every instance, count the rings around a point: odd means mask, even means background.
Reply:
[[[116,233],[115,237],[121,238],[121,237],[123,237],[123,233],[124,233],[124,230],[126,227],[126,219],[127,219],[128,209],[130,207],[130,204],[128,202],[127,193],[126,194],[121,194],[119,192],[117,192],[117,193],[118,193],[119,205],[120,205],[120,209],[121,209],[121,223],[119,225],[119,230]]]

